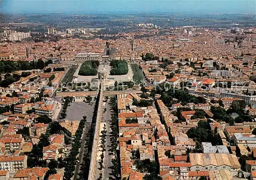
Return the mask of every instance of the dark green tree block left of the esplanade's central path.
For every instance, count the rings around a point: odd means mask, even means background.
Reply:
[[[99,61],[85,61],[82,63],[81,68],[78,72],[80,76],[95,76],[97,75],[97,68]]]

